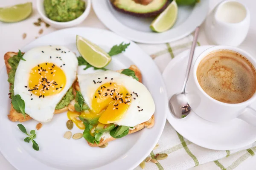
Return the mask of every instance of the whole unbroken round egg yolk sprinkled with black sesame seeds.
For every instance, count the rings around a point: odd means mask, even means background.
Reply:
[[[40,97],[60,93],[66,84],[64,71],[53,63],[41,63],[29,73],[29,91]]]

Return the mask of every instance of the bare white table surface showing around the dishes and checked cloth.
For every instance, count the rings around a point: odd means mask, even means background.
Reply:
[[[220,2],[221,0],[210,0],[210,9]],[[251,22],[250,29],[247,38],[239,46],[240,48],[248,51],[250,54],[256,56],[256,1],[255,0],[240,0],[243,1],[250,10]],[[26,3],[27,0],[0,0],[0,7],[15,5],[18,3]],[[29,19],[24,20],[19,23],[0,23],[0,56],[7,51],[17,51],[17,49],[23,47],[27,43],[35,40],[35,37],[40,37],[55,31],[55,28],[46,28],[44,25],[41,27],[34,26],[33,23],[37,22],[39,17],[38,12],[35,7],[35,0],[33,0],[33,14]],[[93,28],[107,29],[96,17],[93,9],[91,9],[89,16],[81,23],[79,26],[88,26]],[[43,34],[39,35],[38,31],[43,29]],[[26,33],[27,36],[23,40],[22,35]],[[238,33],[239,34],[239,33]],[[204,29],[201,29],[198,41],[201,45],[209,45],[210,42],[207,41],[204,35]],[[0,68],[4,66],[3,58],[0,60]],[[2,113],[3,114],[3,113]],[[3,129],[2,129],[3,130]],[[0,139],[1,140],[1,139]],[[200,166],[194,167],[191,170],[202,170]],[[0,170],[16,170],[0,153]],[[235,170],[256,170],[256,156],[250,157],[242,162]]]

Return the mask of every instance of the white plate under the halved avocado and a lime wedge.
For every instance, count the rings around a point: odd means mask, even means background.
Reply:
[[[110,0],[93,0],[93,10],[99,20],[116,34],[141,43],[165,43],[179,40],[192,33],[203,23],[209,10],[209,0],[201,0],[195,6],[178,6],[175,25],[166,32],[155,33],[149,28],[154,18],[140,18],[116,11]]]

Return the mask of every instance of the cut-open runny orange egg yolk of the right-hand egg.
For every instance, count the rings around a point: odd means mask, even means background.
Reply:
[[[118,121],[127,111],[132,94],[123,85],[108,82],[94,93],[90,114],[101,114],[99,122],[109,124]]]

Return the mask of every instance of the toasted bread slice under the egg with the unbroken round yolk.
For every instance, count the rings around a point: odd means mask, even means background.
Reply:
[[[5,65],[6,65],[6,71],[7,71],[7,74],[9,74],[9,72],[11,71],[12,69],[12,66],[9,65],[9,62],[8,62],[8,59],[17,55],[18,53],[15,53],[15,52],[7,52],[6,54],[4,54],[4,62],[5,62]],[[74,84],[73,84],[74,85]],[[10,84],[10,88],[11,88],[11,84]],[[75,91],[75,88],[73,88],[73,92]],[[61,108],[61,109],[58,109],[58,110],[55,110],[54,114],[58,114],[58,113],[63,113],[65,111],[68,111],[68,106],[67,107],[64,107],[64,108]],[[24,116],[22,113],[19,113],[17,112],[12,104],[11,104],[11,109],[10,109],[10,113],[8,114],[8,118],[12,121],[12,122],[25,122],[27,120],[30,120],[32,119],[29,115],[26,114],[26,117],[24,119]]]

